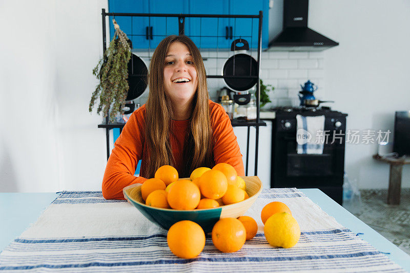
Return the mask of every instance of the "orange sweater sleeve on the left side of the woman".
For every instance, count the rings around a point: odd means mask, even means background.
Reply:
[[[142,157],[144,138],[144,117],[140,109],[133,112],[114,143],[103,178],[104,198],[125,199],[122,189],[135,183],[144,183],[146,178],[134,176]]]

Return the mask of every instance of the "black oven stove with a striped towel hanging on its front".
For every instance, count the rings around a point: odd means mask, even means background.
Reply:
[[[272,123],[272,188],[319,188],[342,203],[346,113],[330,107],[276,107]],[[298,154],[296,115],[324,116],[322,154]],[[332,136],[338,139],[332,142]]]

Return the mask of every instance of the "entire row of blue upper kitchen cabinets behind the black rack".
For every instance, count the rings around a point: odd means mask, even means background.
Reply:
[[[233,14],[257,15],[263,11],[262,48],[268,47],[269,0],[109,0],[109,12],[170,13],[170,14]],[[110,16],[111,38],[114,28]],[[166,36],[178,34],[177,17],[117,16],[121,30],[132,40],[135,49],[155,49]],[[148,39],[146,37],[148,31]],[[152,33],[152,36],[151,36]],[[251,48],[258,47],[258,19],[253,18],[185,18],[185,34],[200,49],[229,49],[234,39],[248,40]],[[232,37],[232,38],[231,38]]]

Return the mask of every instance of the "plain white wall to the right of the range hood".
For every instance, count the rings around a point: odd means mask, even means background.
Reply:
[[[410,110],[410,2],[311,0],[309,26],[340,43],[324,51],[324,78],[326,99],[348,113],[347,129],[393,132],[394,112]],[[345,170],[360,188],[388,186],[389,167],[375,153],[376,144],[346,146]],[[409,165],[402,187],[410,187]]]

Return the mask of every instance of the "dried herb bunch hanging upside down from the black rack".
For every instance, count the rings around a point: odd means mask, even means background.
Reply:
[[[124,112],[124,102],[127,98],[128,89],[128,61],[131,58],[131,48],[127,35],[119,29],[118,24],[113,19],[114,37],[110,42],[109,48],[106,50],[103,58],[93,69],[93,75],[99,79],[99,83],[95,88],[89,105],[89,111],[99,97],[99,105],[97,113],[101,111],[104,117],[107,117],[110,107],[110,121],[115,120],[115,115]],[[118,39],[116,39],[118,37]]]

